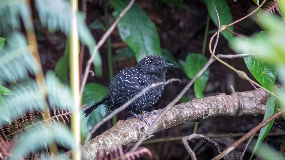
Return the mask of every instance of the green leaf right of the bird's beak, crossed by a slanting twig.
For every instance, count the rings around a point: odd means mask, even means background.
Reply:
[[[185,60],[185,73],[192,79],[194,76],[204,67],[207,63],[207,58],[201,54],[188,54]],[[202,98],[204,97],[203,91],[206,86],[206,83],[209,79],[209,68],[205,70],[204,73],[200,75],[194,82],[194,93],[195,97]]]

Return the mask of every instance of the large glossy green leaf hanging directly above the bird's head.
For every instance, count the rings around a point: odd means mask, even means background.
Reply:
[[[111,0],[110,3],[114,8],[113,15],[117,18],[129,0]],[[161,55],[156,26],[137,4],[134,4],[119,21],[118,30],[122,40],[135,52],[137,61],[150,54]]]

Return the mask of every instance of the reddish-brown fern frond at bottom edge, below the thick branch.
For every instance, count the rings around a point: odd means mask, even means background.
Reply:
[[[105,153],[105,152],[104,152]],[[99,152],[97,152],[99,154]],[[152,153],[146,147],[141,147],[133,152],[124,153],[123,147],[118,149],[113,149],[110,151],[109,155],[104,154],[105,156],[100,160],[135,160],[135,159],[152,159]],[[97,155],[99,157],[99,155]]]

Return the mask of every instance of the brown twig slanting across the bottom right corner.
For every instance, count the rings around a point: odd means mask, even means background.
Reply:
[[[269,122],[271,122],[271,120],[277,118],[278,116],[280,116],[283,113],[282,110],[280,110],[279,112],[273,114],[272,116],[268,117],[266,120],[262,121],[260,124],[258,124],[258,126],[256,126],[255,128],[253,128],[252,130],[250,130],[247,134],[245,134],[242,138],[240,138],[239,140],[237,140],[235,143],[233,143],[230,147],[228,147],[227,149],[225,149],[222,153],[220,153],[219,155],[217,155],[216,157],[214,157],[211,160],[219,160],[222,157],[224,157],[225,155],[227,155],[228,153],[230,153],[233,149],[235,149],[237,146],[239,146],[239,144],[243,143],[245,140],[247,140],[248,138],[250,138],[253,134],[255,134],[255,132],[259,131],[261,128],[265,127]]]

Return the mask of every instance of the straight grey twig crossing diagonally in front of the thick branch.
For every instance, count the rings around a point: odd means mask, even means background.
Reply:
[[[156,119],[152,122],[151,126],[148,128],[146,132],[143,133],[139,141],[133,146],[130,152],[135,151],[137,147],[143,142],[144,138],[148,135],[148,133],[152,130],[152,128],[156,125],[156,123],[160,120],[162,116],[176,103],[180,100],[180,98],[184,95],[184,93],[191,87],[191,85],[194,83],[194,81],[202,74],[204,71],[209,67],[211,63],[213,63],[215,59],[211,56],[209,61],[205,64],[205,66],[195,75],[195,77],[184,87],[184,89],[179,93],[179,95],[172,100],[156,117]]]

